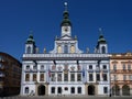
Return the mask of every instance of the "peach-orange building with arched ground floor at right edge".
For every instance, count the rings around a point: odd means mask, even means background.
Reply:
[[[112,54],[110,70],[112,95],[132,95],[132,53]]]

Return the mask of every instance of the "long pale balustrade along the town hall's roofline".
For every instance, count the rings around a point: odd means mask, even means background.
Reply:
[[[109,54],[23,54],[22,59],[109,59]]]

